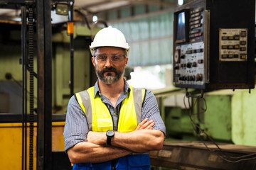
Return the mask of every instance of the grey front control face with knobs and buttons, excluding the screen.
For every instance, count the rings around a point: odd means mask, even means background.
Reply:
[[[186,42],[176,40],[174,52],[174,80],[176,86],[197,87],[203,89],[208,82],[207,77],[207,52],[205,44],[208,37],[208,11],[203,7],[190,8],[186,13],[185,23],[187,22],[188,31],[183,31],[188,35]],[[176,14],[177,20],[180,13]],[[176,23],[176,28],[179,22]],[[179,36],[177,36],[178,38]]]

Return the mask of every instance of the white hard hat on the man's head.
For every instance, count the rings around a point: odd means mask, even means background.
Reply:
[[[120,47],[127,50],[127,56],[129,53],[129,45],[124,38],[124,34],[120,30],[117,30],[117,28],[112,28],[112,26],[103,28],[97,32],[90,45],[90,52],[92,55],[92,50],[96,47]]]

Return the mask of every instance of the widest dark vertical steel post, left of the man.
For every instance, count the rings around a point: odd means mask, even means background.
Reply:
[[[52,42],[50,1],[36,1],[38,43],[37,170],[52,169]]]

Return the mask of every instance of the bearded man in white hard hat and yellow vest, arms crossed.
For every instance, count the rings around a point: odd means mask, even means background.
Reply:
[[[124,80],[129,45],[119,30],[100,30],[90,50],[99,79],[70,98],[64,130],[73,169],[149,169],[145,152],[162,148],[166,130],[156,98]]]

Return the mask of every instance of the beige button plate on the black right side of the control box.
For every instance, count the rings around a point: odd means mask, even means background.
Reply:
[[[247,28],[220,28],[219,60],[222,62],[247,61]]]

